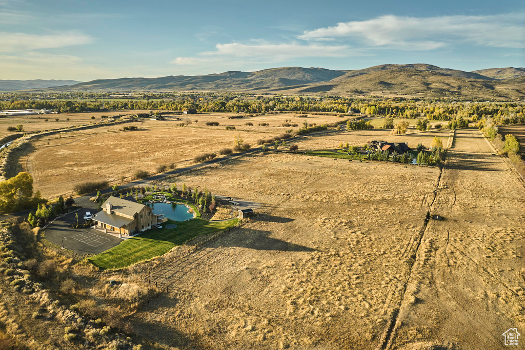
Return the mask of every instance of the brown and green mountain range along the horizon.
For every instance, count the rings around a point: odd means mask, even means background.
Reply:
[[[237,91],[524,100],[525,68],[467,72],[425,63],[388,64],[358,70],[282,67],[204,76],[93,80],[50,87],[45,91]]]

